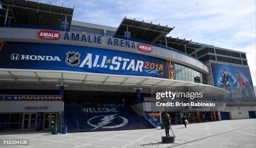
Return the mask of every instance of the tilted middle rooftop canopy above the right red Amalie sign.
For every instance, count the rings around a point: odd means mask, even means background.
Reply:
[[[115,35],[124,35],[124,32],[127,31],[131,32],[131,37],[135,39],[141,39],[148,42],[156,42],[159,37],[169,34],[174,27],[167,27],[161,26],[160,24],[152,24],[152,22],[144,22],[127,19],[126,17],[123,18],[122,22],[120,23],[118,29],[115,32]]]

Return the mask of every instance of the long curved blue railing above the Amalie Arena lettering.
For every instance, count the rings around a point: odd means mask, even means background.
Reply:
[[[163,45],[160,45],[160,44],[147,42],[147,41],[144,41],[144,40],[141,40],[141,39],[125,37],[125,36],[121,36],[121,35],[113,35],[113,34],[108,34],[108,33],[95,32],[95,31],[89,31],[89,30],[80,30],[80,29],[73,29],[73,28],[71,29],[71,28],[64,28],[64,27],[50,27],[50,26],[39,26],[39,25],[0,24],[0,27],[30,28],[30,29],[41,29],[41,30],[57,30],[57,31],[66,31],[66,32],[79,32],[79,33],[84,32],[84,33],[93,34],[93,35],[115,37],[115,38],[119,38],[119,39],[127,39],[127,40],[134,41],[134,42],[140,42],[140,43],[144,43],[144,44],[149,44],[149,45],[152,45],[152,46],[160,47],[160,48],[163,48],[163,49],[168,49],[168,50],[171,50],[173,52],[177,52],[179,54],[186,55],[188,57],[191,57],[191,58],[196,59],[197,61],[199,61],[197,58],[193,57],[192,55],[186,54],[186,53],[181,52],[181,51],[179,51],[177,49],[173,49],[173,48],[166,47],[166,46],[163,46]],[[199,61],[199,62],[201,62],[201,61]]]

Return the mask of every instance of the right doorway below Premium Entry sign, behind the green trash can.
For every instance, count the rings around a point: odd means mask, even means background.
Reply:
[[[44,128],[51,129],[57,123],[57,113],[44,113]]]

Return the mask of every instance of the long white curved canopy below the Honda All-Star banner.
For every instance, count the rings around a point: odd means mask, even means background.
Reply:
[[[57,70],[33,70],[33,69],[0,69],[0,81],[34,81],[34,82],[63,82],[99,85],[126,85],[147,86],[159,88],[173,88],[175,86],[191,87],[191,90],[209,93],[219,96],[229,92],[210,85],[161,79],[148,76],[127,76],[115,74],[95,74],[85,72],[69,72]]]

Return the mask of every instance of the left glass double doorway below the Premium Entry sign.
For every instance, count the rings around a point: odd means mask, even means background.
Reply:
[[[36,130],[36,113],[24,113],[23,130]]]

